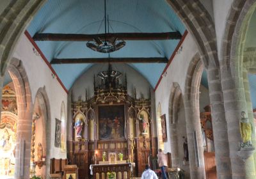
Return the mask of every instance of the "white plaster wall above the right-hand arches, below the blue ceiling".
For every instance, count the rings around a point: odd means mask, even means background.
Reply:
[[[170,100],[170,91],[173,82],[178,82],[182,95],[184,94],[184,86],[186,81],[186,74],[188,72],[188,66],[198,52],[197,45],[195,44],[193,37],[188,33],[184,42],[182,43],[182,51],[180,54],[176,54],[173,58],[171,65],[166,70],[166,77],[163,77],[159,86],[156,89],[156,106],[160,102],[162,107],[162,114],[166,114],[166,128],[167,128],[167,137],[168,141],[164,143],[164,152],[171,152],[170,144],[170,130],[169,125],[170,121],[168,119],[168,107]],[[157,114],[157,111],[156,111]],[[172,152],[171,152],[172,153]]]

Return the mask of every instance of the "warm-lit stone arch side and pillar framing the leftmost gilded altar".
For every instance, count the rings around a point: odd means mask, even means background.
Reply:
[[[33,110],[31,89],[22,61],[12,58],[8,72],[16,91],[18,109],[15,178],[29,178]]]

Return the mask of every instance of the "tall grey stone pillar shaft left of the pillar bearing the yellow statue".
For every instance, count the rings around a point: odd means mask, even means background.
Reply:
[[[212,130],[218,178],[232,178],[229,158],[227,121],[223,104],[223,89],[230,87],[225,83],[221,87],[220,70],[211,64],[207,70],[209,97],[211,102]]]

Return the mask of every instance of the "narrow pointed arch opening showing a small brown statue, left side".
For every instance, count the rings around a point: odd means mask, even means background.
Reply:
[[[44,88],[39,88],[33,109],[31,129],[31,176],[47,177],[51,160],[51,114]]]

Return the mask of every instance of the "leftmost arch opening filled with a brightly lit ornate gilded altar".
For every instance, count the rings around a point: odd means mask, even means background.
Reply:
[[[0,120],[0,178],[14,178],[17,140],[17,97],[9,72],[4,74]]]

